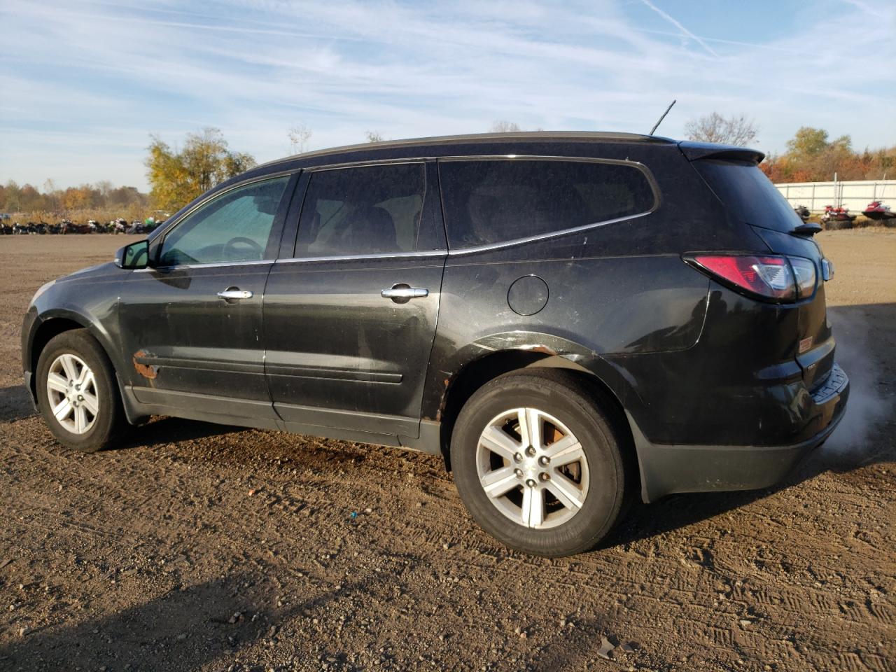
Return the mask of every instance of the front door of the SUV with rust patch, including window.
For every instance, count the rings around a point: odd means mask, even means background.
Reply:
[[[138,401],[272,423],[262,301],[292,184],[273,177],[212,196],[126,280],[119,320]]]

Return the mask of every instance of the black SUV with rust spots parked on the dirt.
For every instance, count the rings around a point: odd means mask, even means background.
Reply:
[[[275,161],[39,289],[25,380],[85,451],[166,415],[434,452],[496,538],[577,553],[639,487],[767,487],[842,416],[831,264],[760,160],[528,133]]]

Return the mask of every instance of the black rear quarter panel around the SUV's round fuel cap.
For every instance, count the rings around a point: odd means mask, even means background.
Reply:
[[[656,406],[647,388],[656,387],[654,383],[670,387],[664,353],[693,349],[707,312],[710,280],[688,267],[681,255],[767,247],[750,228],[728,218],[675,145],[517,151],[639,162],[655,181],[659,207],[630,220],[525,244],[470,253],[452,250],[423,416],[439,417],[445,391],[470,362],[499,349],[544,347],[540,351],[556,352],[598,375],[645,432],[656,433],[659,427],[650,422]],[[480,148],[480,153],[486,152]],[[540,312],[523,316],[513,312],[507,295],[513,281],[527,275],[545,280],[548,298]],[[645,375],[642,366],[629,369],[634,362],[648,361],[659,366],[656,375]]]

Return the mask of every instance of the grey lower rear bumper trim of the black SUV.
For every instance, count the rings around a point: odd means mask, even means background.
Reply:
[[[654,502],[674,493],[769,487],[827,440],[843,418],[848,398],[849,378],[835,364],[827,381],[812,394],[813,422],[822,428],[804,441],[781,446],[651,444],[629,415],[642,498]]]

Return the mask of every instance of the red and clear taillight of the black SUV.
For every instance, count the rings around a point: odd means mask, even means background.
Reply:
[[[776,302],[811,297],[815,264],[798,256],[689,254],[685,262],[723,284]]]

